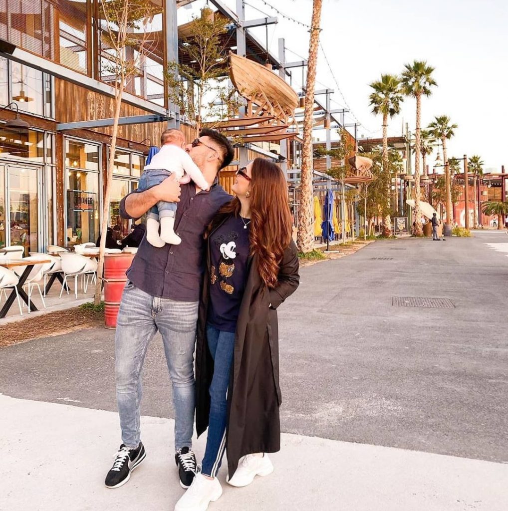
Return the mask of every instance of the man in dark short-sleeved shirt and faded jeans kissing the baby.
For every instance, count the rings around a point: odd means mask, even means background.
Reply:
[[[168,135],[161,136],[164,145]],[[233,159],[233,146],[218,131],[203,129],[186,146],[204,178],[213,182],[205,192],[193,182],[180,185],[173,176],[120,202],[122,218],[137,219],[158,201],[178,202],[175,230],[181,244],[161,248],[143,238],[127,271],[115,337],[117,403],[122,445],[106,476],[108,488],[125,484],[146,456],[140,438],[141,370],[148,343],[157,331],[163,338],[173,386],[175,461],[180,485],[191,485],[196,473],[192,452],[195,383],[194,345],[203,267],[203,233],[220,206],[232,197],[217,184],[219,170]]]

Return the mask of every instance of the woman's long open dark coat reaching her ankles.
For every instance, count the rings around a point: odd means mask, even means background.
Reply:
[[[210,239],[210,238],[209,238]],[[210,243],[204,276],[196,344],[196,429],[208,427],[210,384],[214,363],[206,341],[206,317],[210,288]],[[282,403],[279,386],[279,305],[299,283],[296,246],[284,252],[279,284],[267,289],[257,271],[256,257],[248,260],[248,277],[235,334],[235,352],[227,392],[226,451],[229,475],[245,454],[280,450]],[[271,307],[270,307],[271,304]]]

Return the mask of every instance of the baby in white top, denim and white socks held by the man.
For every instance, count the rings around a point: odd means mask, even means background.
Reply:
[[[183,149],[186,140],[180,130],[166,130],[160,137],[160,144],[160,151],[153,156],[150,164],[145,166],[138,190],[148,190],[172,174],[175,174],[180,184],[188,183],[192,179],[202,190],[210,188],[210,183]],[[163,247],[166,243],[181,243],[181,238],[175,234],[176,206],[176,202],[159,201],[147,213],[146,239],[154,247]]]

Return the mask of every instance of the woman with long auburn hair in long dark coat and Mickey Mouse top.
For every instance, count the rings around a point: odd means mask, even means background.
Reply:
[[[287,184],[273,162],[237,172],[236,197],[208,227],[196,345],[196,429],[208,427],[201,472],[175,511],[217,500],[227,450],[228,483],[246,486],[280,450],[281,391],[276,308],[298,287]]]

